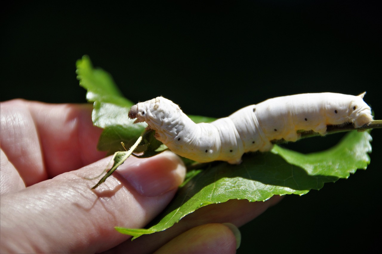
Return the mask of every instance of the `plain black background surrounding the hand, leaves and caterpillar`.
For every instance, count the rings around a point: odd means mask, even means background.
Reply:
[[[1,9],[1,101],[84,103],[75,62],[86,54],[130,100],[163,95],[187,114],[223,117],[275,96],[367,91],[382,119],[381,9],[372,3],[10,5]],[[381,239],[381,132],[372,131],[367,170],[286,196],[241,228],[238,253],[371,250]],[[289,146],[316,151],[340,137]]]

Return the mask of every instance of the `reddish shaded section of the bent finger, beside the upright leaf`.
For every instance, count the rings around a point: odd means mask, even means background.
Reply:
[[[28,107],[51,177],[105,157],[105,152],[97,151],[102,129],[93,125],[91,104],[29,103]]]

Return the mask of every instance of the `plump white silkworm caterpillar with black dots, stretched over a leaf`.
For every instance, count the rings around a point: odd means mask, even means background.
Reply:
[[[326,134],[327,125],[372,121],[370,107],[358,96],[340,93],[304,93],[282,96],[239,109],[211,123],[194,123],[178,105],[157,97],[133,105],[134,123],[146,122],[155,138],[171,151],[197,162],[241,162],[243,153],[269,151],[272,140],[296,141],[298,130]]]

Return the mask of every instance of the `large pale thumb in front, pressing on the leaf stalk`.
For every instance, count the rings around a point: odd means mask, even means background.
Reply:
[[[128,158],[91,190],[97,179],[83,177],[102,172],[109,159],[2,195],[1,252],[105,251],[130,238],[115,226],[144,227],[167,206],[185,177],[180,158],[165,152]]]

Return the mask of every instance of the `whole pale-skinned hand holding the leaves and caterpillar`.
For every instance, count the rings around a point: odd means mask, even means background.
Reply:
[[[225,224],[249,222],[280,200],[231,200],[202,207],[168,230],[131,236],[159,214],[185,177],[178,156],[130,157],[97,189],[110,157],[96,150],[101,129],[89,104],[2,102],[0,252],[235,253]],[[127,117],[127,116],[126,116]]]

